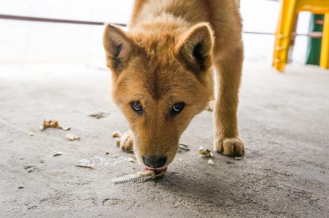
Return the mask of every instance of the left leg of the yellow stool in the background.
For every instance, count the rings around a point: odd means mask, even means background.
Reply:
[[[287,62],[291,30],[295,22],[296,0],[282,0],[281,14],[278,21],[273,66],[283,71]]]

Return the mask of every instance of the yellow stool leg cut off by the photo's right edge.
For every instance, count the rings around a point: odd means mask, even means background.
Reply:
[[[320,67],[324,69],[329,68],[329,12],[324,14]]]

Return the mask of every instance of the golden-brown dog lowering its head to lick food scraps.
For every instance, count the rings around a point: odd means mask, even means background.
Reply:
[[[113,98],[139,162],[166,168],[180,135],[213,100],[214,150],[241,156],[236,108],[243,62],[239,0],[136,0],[129,32],[107,25],[103,43]]]

